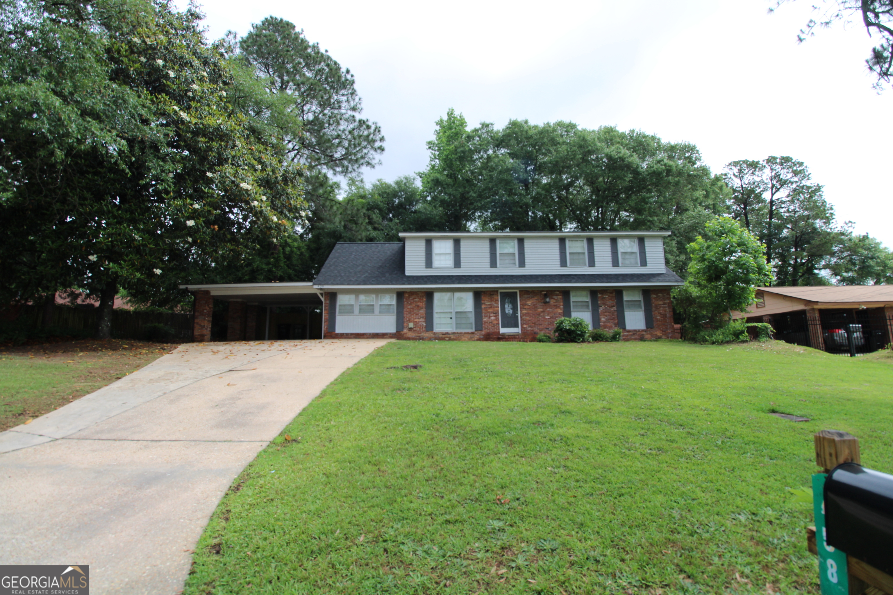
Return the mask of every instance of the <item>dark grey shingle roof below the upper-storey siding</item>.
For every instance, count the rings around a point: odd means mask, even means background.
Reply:
[[[663,273],[589,273],[564,275],[406,275],[403,242],[342,243],[322,266],[313,285],[561,285],[665,283],[682,279]]]

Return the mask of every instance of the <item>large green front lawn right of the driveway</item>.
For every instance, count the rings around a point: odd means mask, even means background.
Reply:
[[[825,428],[893,472],[891,360],[389,343],[238,477],[186,592],[817,593],[789,488]]]

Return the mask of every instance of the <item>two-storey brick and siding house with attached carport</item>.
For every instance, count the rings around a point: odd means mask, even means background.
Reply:
[[[312,284],[184,287],[196,293],[196,341],[210,339],[213,299],[230,301],[230,340],[532,341],[562,317],[620,327],[625,339],[671,338],[670,290],[682,280],[664,263],[669,234],[403,233],[336,244]]]

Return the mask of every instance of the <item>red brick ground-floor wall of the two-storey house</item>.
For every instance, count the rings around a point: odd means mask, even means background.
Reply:
[[[613,330],[617,327],[617,307],[614,290],[598,292],[599,318],[601,327]],[[483,330],[434,332],[425,330],[425,292],[404,293],[404,330],[396,333],[334,333],[329,329],[331,315],[330,293],[325,294],[325,312],[322,326],[327,339],[408,339],[440,341],[535,341],[539,333],[552,333],[555,320],[563,317],[563,293],[561,291],[521,290],[519,302],[521,310],[521,333],[502,334],[499,332],[499,292],[481,292]],[[549,302],[545,298],[548,296]],[[232,306],[230,305],[230,308]],[[655,320],[654,328],[645,330],[624,330],[624,341],[646,339],[669,339],[676,334],[672,323],[672,302],[669,289],[651,290],[651,309]],[[410,328],[410,325],[413,325]]]

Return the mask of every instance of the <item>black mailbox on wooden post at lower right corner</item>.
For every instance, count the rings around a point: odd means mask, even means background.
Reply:
[[[824,498],[828,545],[893,574],[893,475],[844,463],[828,474]]]

